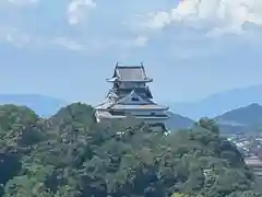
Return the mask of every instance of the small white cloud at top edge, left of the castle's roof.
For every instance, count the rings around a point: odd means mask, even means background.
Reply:
[[[93,0],[71,0],[68,7],[68,22],[75,25],[80,23],[90,11],[94,9],[96,3]]]

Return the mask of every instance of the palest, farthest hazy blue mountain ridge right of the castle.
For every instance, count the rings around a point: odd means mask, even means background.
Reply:
[[[170,108],[192,119],[216,117],[228,111],[258,103],[262,105],[262,84],[234,89],[211,95],[194,103],[168,103]]]

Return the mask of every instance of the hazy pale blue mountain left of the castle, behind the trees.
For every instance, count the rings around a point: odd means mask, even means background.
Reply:
[[[61,100],[38,94],[0,94],[0,104],[27,106],[43,117],[51,116],[67,105]]]

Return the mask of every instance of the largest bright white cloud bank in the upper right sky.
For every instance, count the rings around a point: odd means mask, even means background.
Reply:
[[[262,1],[181,0],[176,8],[166,12],[147,14],[144,26],[163,28],[172,22],[190,26],[201,22],[215,28],[215,34],[239,33],[246,22],[262,25]]]

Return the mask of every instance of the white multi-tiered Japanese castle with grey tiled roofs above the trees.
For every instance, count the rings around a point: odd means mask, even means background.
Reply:
[[[148,124],[164,124],[169,118],[168,107],[153,101],[147,83],[153,79],[141,66],[116,65],[114,74],[107,79],[112,83],[104,103],[95,107],[97,121],[109,118],[134,117]]]

